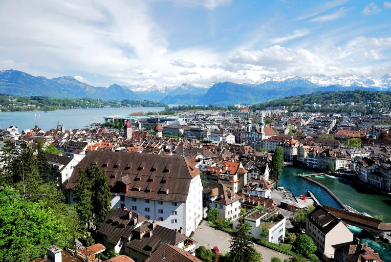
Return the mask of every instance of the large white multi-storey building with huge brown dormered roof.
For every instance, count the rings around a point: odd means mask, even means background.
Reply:
[[[112,208],[128,208],[170,229],[190,235],[202,219],[199,171],[185,157],[91,151],[77,164],[66,184],[68,203],[79,171],[96,162],[109,178]]]

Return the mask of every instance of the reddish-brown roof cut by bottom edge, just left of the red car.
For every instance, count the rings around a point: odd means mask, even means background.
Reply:
[[[181,250],[173,245],[163,243],[153,252],[152,257],[145,262],[202,262],[189,252]]]

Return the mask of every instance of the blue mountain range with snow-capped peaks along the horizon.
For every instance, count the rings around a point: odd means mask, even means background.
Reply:
[[[183,83],[180,86],[120,86],[93,87],[74,77],[63,76],[48,79],[17,70],[0,71],[0,93],[32,96],[41,95],[58,98],[90,97],[102,100],[152,100],[167,104],[234,105],[255,104],[298,94],[316,91],[347,91],[365,89],[369,91],[391,90],[391,75],[376,79],[366,76],[324,74],[311,77],[288,76],[284,78],[261,76],[251,83],[215,83],[197,87]]]

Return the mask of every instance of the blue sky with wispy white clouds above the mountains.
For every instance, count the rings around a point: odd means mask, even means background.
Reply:
[[[0,0],[0,70],[94,86],[391,73],[391,0]]]

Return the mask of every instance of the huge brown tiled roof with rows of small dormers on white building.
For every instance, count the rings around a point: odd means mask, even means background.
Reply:
[[[126,193],[130,197],[186,202],[190,181],[199,175],[182,156],[92,151],[75,166],[66,189],[74,189],[79,171],[93,161],[106,171],[113,193],[123,192],[121,184],[130,182]]]

